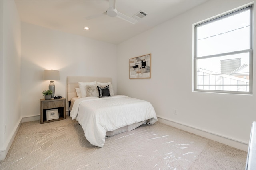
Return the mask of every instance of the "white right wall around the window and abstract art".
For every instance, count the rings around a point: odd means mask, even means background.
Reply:
[[[148,100],[163,123],[247,151],[256,96],[192,92],[192,24],[248,2],[208,1],[119,44],[117,94]],[[129,59],[148,53],[151,79],[129,79]]]

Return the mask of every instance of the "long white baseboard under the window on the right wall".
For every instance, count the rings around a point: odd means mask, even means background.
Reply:
[[[213,141],[217,141],[220,143],[223,143],[225,145],[240,149],[240,150],[244,150],[244,151],[248,151],[248,143],[243,142],[243,141],[238,141],[236,139],[231,139],[229,137],[225,137],[216,133],[212,133],[209,131],[205,131],[203,129],[199,129],[196,127],[192,127],[189,125],[185,125],[184,123],[180,123],[180,122],[176,122],[176,121],[172,121],[163,117],[158,117],[158,121],[160,123],[164,123],[166,125],[172,126],[172,127],[176,127],[178,129],[182,129],[184,131],[190,132],[190,133],[194,133],[196,135],[205,137],[207,139],[211,139]]]

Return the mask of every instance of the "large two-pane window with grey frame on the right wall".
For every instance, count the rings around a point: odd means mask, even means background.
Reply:
[[[252,94],[252,6],[194,28],[194,91]]]

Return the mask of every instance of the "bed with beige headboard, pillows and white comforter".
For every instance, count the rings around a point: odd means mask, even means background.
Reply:
[[[70,117],[82,126],[86,139],[98,147],[103,147],[106,136],[157,121],[150,102],[114,95],[111,82],[108,77],[67,77]]]

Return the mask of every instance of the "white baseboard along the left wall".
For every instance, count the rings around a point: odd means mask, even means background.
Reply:
[[[12,131],[12,135],[10,136],[10,138],[7,140],[7,146],[4,147],[3,150],[0,150],[0,160],[4,160],[8,154],[8,151],[10,150],[10,147],[12,146],[12,142],[14,141],[14,138],[18,132],[18,130],[20,129],[20,125],[22,118],[20,118],[20,120],[18,121],[18,123],[16,124],[14,130]]]

